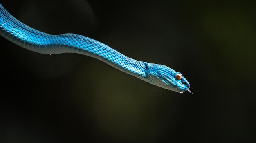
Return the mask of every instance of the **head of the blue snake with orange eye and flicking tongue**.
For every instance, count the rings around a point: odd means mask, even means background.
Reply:
[[[148,64],[148,77],[153,85],[183,93],[189,91],[190,84],[180,72],[159,64]],[[189,91],[191,93],[191,91]]]

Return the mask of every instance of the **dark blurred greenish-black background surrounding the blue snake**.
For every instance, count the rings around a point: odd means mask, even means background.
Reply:
[[[0,37],[1,143],[256,141],[256,10],[247,0],[0,0],[50,34],[77,33],[167,65],[183,94],[94,58],[44,55]]]

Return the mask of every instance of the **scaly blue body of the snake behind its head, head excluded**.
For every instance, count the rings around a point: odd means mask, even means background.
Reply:
[[[97,58],[140,79],[147,63],[129,58],[99,41],[78,34],[51,35],[31,28],[10,15],[0,4],[0,35],[41,54],[78,53]]]

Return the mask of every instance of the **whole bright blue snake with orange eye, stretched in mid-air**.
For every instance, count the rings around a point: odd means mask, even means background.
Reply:
[[[171,91],[183,93],[190,88],[184,76],[170,67],[137,61],[108,45],[82,35],[51,35],[40,32],[17,20],[4,9],[2,4],[0,4],[0,35],[27,50],[41,54],[77,53],[91,56],[127,74]]]

